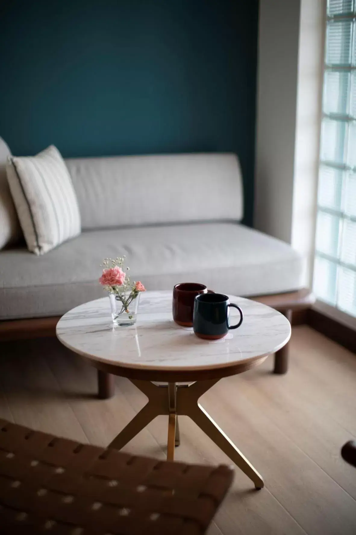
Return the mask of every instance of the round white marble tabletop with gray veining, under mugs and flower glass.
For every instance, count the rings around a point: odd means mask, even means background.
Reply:
[[[145,370],[209,370],[270,355],[290,338],[288,320],[264,304],[229,296],[243,310],[243,323],[225,338],[207,341],[172,319],[172,292],[140,296],[136,325],[114,326],[108,297],[84,303],[62,316],[57,337],[90,360]],[[238,310],[231,309],[236,323]]]

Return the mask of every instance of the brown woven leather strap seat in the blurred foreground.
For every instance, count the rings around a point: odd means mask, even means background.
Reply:
[[[205,533],[230,468],[131,456],[0,419],[1,533]]]

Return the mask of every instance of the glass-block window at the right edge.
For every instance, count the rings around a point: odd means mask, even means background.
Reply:
[[[328,0],[313,288],[356,317],[356,0]]]

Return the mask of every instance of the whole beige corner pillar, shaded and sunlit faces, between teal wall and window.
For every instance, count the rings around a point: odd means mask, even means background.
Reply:
[[[260,0],[255,227],[306,259],[311,284],[325,0]]]

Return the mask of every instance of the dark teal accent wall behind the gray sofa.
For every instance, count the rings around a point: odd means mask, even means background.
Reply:
[[[233,151],[254,198],[257,0],[3,0],[13,154]]]

